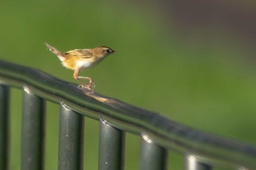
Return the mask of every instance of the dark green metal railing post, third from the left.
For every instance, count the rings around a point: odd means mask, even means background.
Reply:
[[[83,169],[84,117],[60,104],[59,170]]]

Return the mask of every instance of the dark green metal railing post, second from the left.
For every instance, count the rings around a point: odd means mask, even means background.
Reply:
[[[24,88],[21,170],[44,169],[45,100]]]

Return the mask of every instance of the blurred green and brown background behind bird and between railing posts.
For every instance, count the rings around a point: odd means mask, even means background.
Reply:
[[[94,78],[98,93],[255,144],[255,9],[241,0],[4,0],[0,58],[76,82],[44,42],[63,52],[112,47],[116,55],[81,74]],[[21,98],[12,90],[13,170],[20,169]],[[58,119],[59,106],[48,103],[45,169],[57,169]],[[138,169],[140,139],[127,140],[126,169]],[[97,169],[97,142],[98,123],[86,118],[86,169]],[[170,152],[169,169],[183,169],[182,158]]]

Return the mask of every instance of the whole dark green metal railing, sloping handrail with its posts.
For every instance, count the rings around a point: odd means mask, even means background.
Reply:
[[[10,88],[23,89],[21,170],[44,169],[45,101],[60,104],[59,170],[83,169],[84,117],[99,120],[99,169],[124,169],[125,134],[141,136],[140,169],[167,169],[167,151],[187,170],[256,169],[256,147],[208,134],[49,74],[0,61],[0,169],[8,169]]]

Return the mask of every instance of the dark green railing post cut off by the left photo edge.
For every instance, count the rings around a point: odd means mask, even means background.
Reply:
[[[0,84],[0,169],[9,169],[9,104],[10,90]]]

